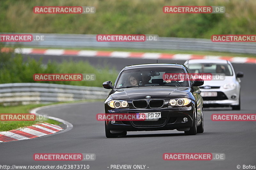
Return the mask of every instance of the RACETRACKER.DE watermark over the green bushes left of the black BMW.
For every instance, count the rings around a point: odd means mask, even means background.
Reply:
[[[95,74],[34,74],[34,81],[94,81]]]

